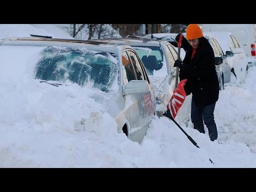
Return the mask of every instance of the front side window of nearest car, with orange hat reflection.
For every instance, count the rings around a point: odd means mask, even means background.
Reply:
[[[136,80],[134,70],[126,52],[122,53],[123,84],[127,85],[131,80]]]

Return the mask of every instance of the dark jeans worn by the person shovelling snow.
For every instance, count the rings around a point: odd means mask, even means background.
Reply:
[[[191,102],[191,121],[194,124],[194,129],[198,130],[200,133],[205,133],[204,124],[208,128],[209,137],[211,141],[218,138],[217,126],[214,121],[214,108],[215,102],[211,105],[205,107],[196,107],[194,99],[192,97]],[[204,121],[204,124],[203,124]]]

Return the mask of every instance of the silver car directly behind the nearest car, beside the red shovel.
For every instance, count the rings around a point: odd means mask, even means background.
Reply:
[[[138,53],[156,90],[156,115],[162,116],[175,89],[176,67],[178,59],[175,47],[164,40],[148,38],[109,38],[93,39],[88,42],[109,42],[132,46]]]

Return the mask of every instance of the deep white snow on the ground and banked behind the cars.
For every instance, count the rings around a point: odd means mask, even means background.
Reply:
[[[54,25],[0,25],[1,38],[31,33],[71,38]],[[141,144],[127,139],[93,99],[95,90],[39,83],[31,78],[33,62],[23,55],[15,55],[21,63],[14,67],[8,59],[13,55],[0,49],[0,58],[7,58],[0,62],[0,167],[256,167],[256,67],[245,81],[233,78],[220,91],[218,140],[210,141],[207,128],[199,133],[178,114],[196,148],[165,117],[154,117]],[[77,126],[81,120],[84,125]]]

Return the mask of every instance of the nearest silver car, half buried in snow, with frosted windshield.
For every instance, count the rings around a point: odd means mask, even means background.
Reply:
[[[154,86],[138,54],[128,45],[90,44],[75,39],[8,38],[0,41],[0,65],[10,70],[22,65],[20,76],[31,81],[27,86],[37,82],[38,86],[41,83],[54,86],[57,91],[77,86],[97,91],[91,98],[106,107],[116,121],[117,132],[125,133],[132,141],[142,142],[155,114]],[[11,81],[7,71],[2,78]]]

